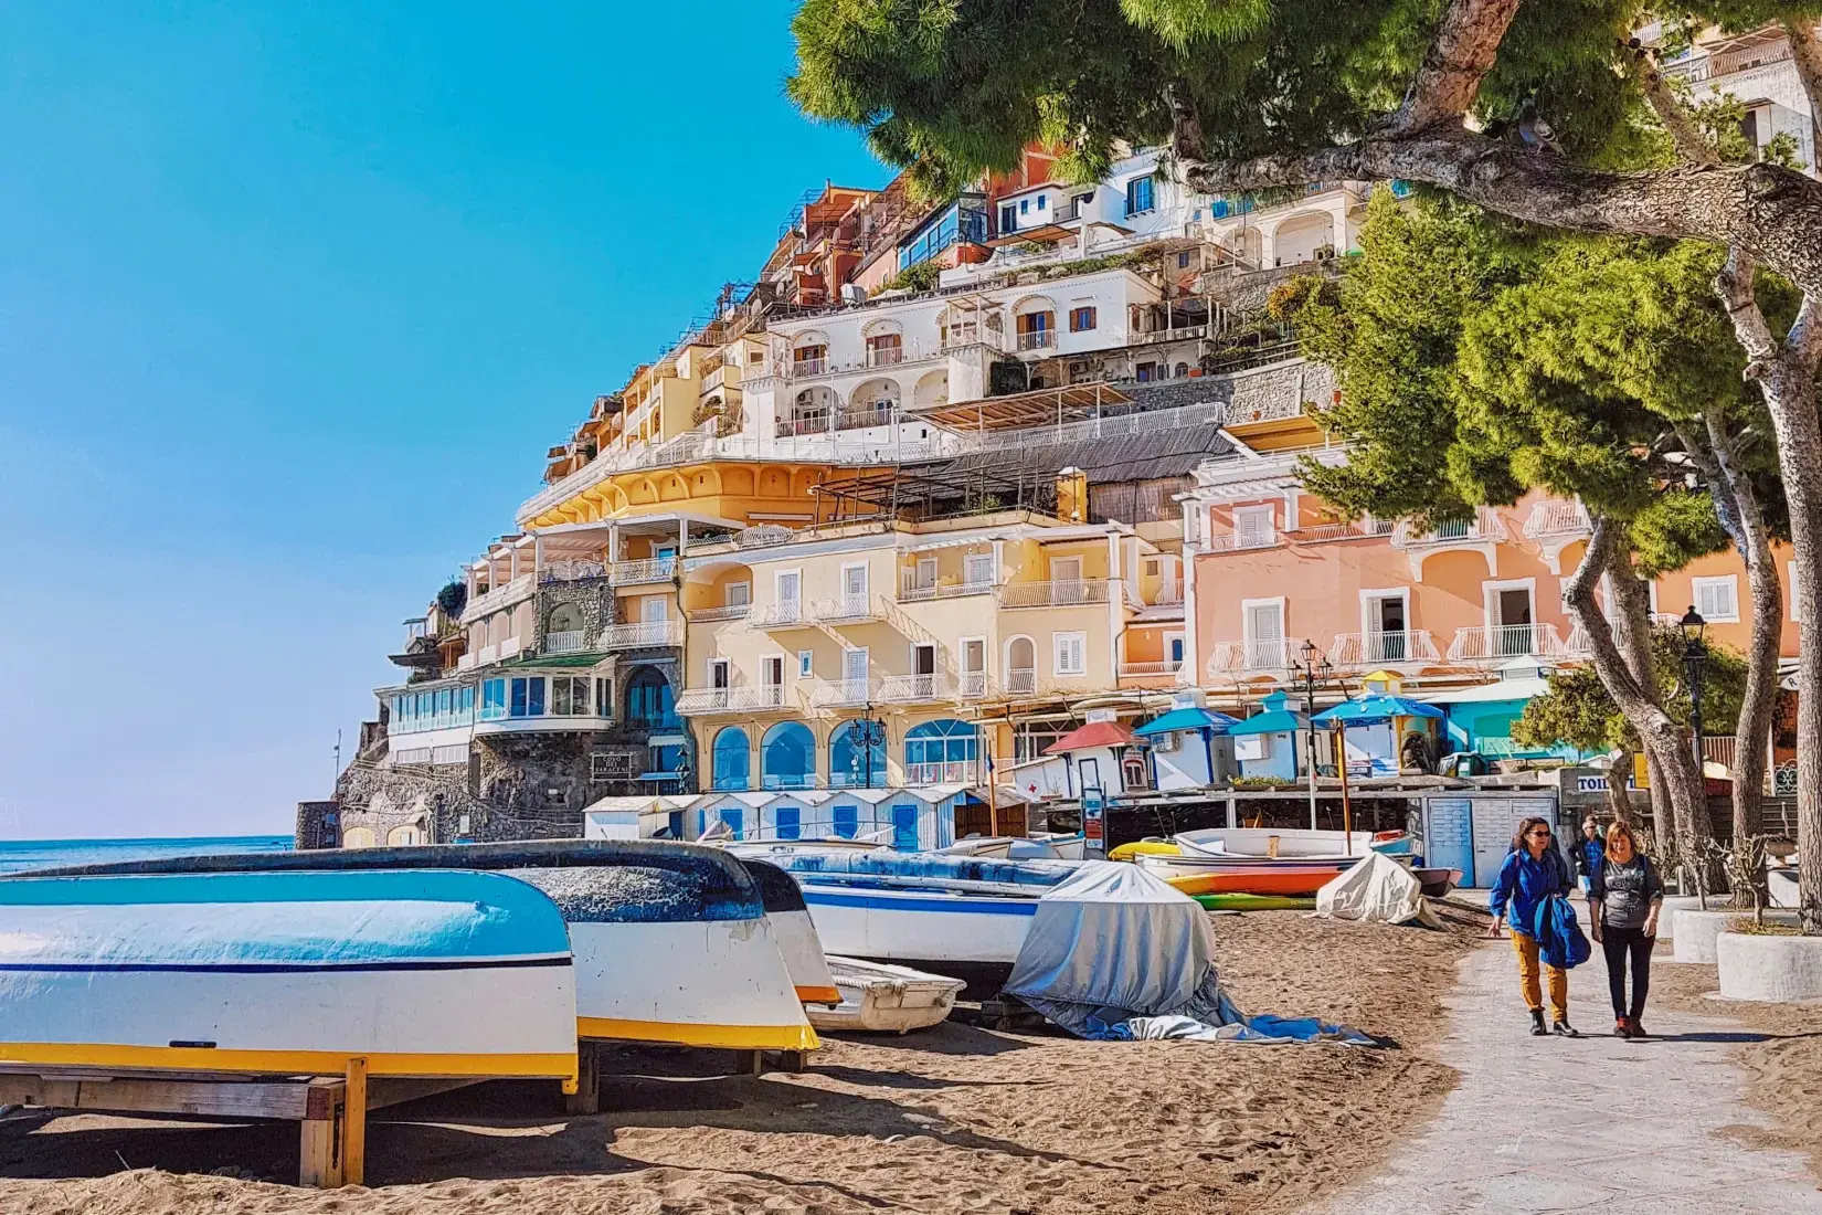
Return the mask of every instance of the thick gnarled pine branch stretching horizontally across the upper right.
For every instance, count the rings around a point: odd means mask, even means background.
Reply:
[[[1738,246],[1806,291],[1822,293],[1822,240],[1815,237],[1822,231],[1822,182],[1775,164],[1605,173],[1450,126],[1186,169],[1195,189],[1217,195],[1323,180],[1428,182],[1489,211],[1551,228]]]

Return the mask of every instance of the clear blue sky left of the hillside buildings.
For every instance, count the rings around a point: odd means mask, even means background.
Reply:
[[[0,838],[284,832],[798,195],[793,5],[0,7]]]

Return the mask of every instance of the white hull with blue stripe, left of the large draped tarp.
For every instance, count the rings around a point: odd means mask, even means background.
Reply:
[[[802,880],[805,874],[798,874]],[[804,883],[816,936],[831,955],[913,962],[1011,965],[1037,896],[993,898],[946,891]]]

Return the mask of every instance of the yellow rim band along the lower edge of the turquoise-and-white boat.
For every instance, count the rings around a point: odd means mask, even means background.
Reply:
[[[559,1055],[417,1055],[397,1051],[241,1051],[197,1046],[118,1046],[87,1042],[0,1042],[0,1064],[33,1067],[106,1067],[157,1071],[233,1071],[266,1075],[346,1075],[364,1058],[372,1077],[499,1077],[576,1082],[574,1051]]]

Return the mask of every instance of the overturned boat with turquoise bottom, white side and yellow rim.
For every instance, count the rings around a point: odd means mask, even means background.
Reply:
[[[572,1086],[552,900],[456,871],[0,880],[0,1064],[310,1075],[355,1057]]]

